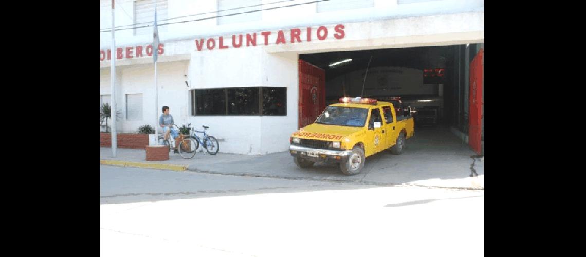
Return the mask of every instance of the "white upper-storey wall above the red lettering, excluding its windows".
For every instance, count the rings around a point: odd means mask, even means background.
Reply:
[[[276,2],[274,0],[263,0],[263,4]],[[264,5],[263,8],[273,8],[308,2],[306,0],[294,0],[279,4]],[[111,1],[100,1],[100,29],[109,29],[111,26]],[[242,1],[246,6],[247,1]],[[118,3],[115,9],[115,25],[128,25],[134,19],[133,1]],[[190,16],[173,21],[184,21],[193,19],[212,18],[216,16],[217,1],[213,0],[169,0],[168,18],[208,13],[205,15]],[[343,9],[333,12],[316,12],[316,4],[305,4],[281,9],[273,9],[262,12],[262,19],[234,24],[217,25],[217,20],[207,19],[197,22],[176,23],[167,26],[166,32],[161,33],[161,41],[186,39],[197,36],[217,36],[224,33],[239,33],[250,30],[274,30],[292,28],[295,26],[314,26],[333,24],[340,22],[366,22],[373,20],[412,18],[421,16],[449,15],[453,13],[484,12],[483,0],[436,0],[425,2],[414,2],[399,4],[397,1],[374,1],[373,8]],[[165,22],[158,22],[163,24]],[[442,23],[426,23],[423,27],[410,26],[406,29],[431,29],[440,30]],[[152,35],[132,35],[132,29],[115,32],[117,45],[130,45],[135,43],[150,43]],[[100,46],[110,46],[110,32],[100,33]]]

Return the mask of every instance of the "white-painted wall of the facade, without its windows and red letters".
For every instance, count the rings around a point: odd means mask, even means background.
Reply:
[[[110,2],[101,1],[100,28],[110,28]],[[274,0],[263,0],[263,3]],[[277,5],[306,2],[295,0]],[[243,5],[247,1],[242,1]],[[404,4],[403,4],[404,3]],[[212,12],[182,18],[215,16],[217,1],[169,0],[168,17]],[[132,1],[117,4],[116,25],[132,23]],[[220,139],[220,152],[265,154],[286,150],[288,138],[297,129],[298,54],[393,47],[481,43],[484,40],[484,1],[438,0],[426,2],[374,1],[374,8],[316,13],[316,4],[263,11],[261,20],[217,25],[216,19],[178,23],[159,30],[165,53],[159,56],[159,107],[154,106],[154,65],[152,57],[116,60],[118,109],[125,109],[125,94],[143,94],[143,121],[117,123],[119,132],[134,132],[144,124],[156,125],[160,107],[168,105],[175,123],[191,123],[200,129],[209,126],[210,135]],[[159,22],[159,25],[163,22]],[[334,26],[345,25],[345,37],[333,37]],[[328,37],[317,40],[319,26],[328,28]],[[311,42],[291,43],[291,29]],[[278,30],[285,32],[285,44],[275,44]],[[264,46],[261,32],[272,32]],[[257,33],[257,46],[231,47],[231,36]],[[132,35],[132,30],[116,32],[117,47],[146,46],[152,35]],[[223,36],[229,49],[196,49],[195,39]],[[111,34],[100,33],[100,49],[110,49]],[[216,42],[218,43],[218,42]],[[110,94],[110,61],[100,61],[100,93]],[[187,75],[186,77],[184,75]],[[421,76],[420,76],[421,77]],[[423,79],[423,78],[422,78]],[[189,88],[185,81],[188,81]],[[360,81],[362,85],[362,81]],[[189,90],[226,87],[287,87],[287,116],[190,116]]]

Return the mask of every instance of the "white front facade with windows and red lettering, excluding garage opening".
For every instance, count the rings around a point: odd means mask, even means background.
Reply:
[[[484,1],[167,0],[156,1],[154,49],[154,6],[117,1],[111,51],[111,1],[101,1],[100,102],[111,101],[115,57],[118,132],[156,126],[166,105],[179,126],[209,126],[224,153],[288,149],[301,115],[301,54],[484,43]]]

